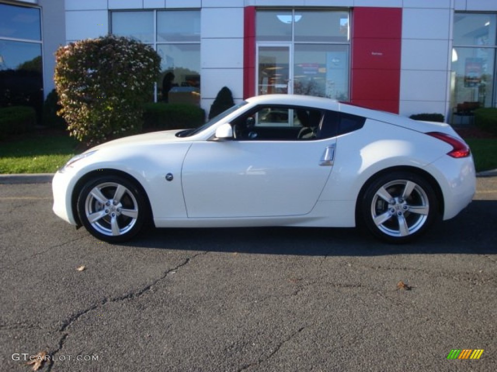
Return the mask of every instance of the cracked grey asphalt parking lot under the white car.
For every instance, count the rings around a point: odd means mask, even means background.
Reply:
[[[0,185],[1,371],[496,370],[497,177],[407,246],[304,228],[113,246],[51,206],[50,184]]]

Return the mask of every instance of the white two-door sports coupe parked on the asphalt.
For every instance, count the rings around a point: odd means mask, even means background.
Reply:
[[[363,226],[403,243],[475,193],[448,124],[326,98],[249,98],[197,129],[96,146],[53,179],[54,212],[110,243],[144,227]]]

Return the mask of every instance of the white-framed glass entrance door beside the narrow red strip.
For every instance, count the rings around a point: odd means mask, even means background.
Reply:
[[[257,48],[257,95],[292,94],[290,44],[265,44]]]

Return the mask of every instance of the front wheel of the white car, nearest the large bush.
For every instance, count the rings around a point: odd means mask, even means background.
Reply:
[[[141,188],[115,175],[102,175],[86,182],[77,206],[86,230],[109,243],[130,240],[142,230],[150,216]]]

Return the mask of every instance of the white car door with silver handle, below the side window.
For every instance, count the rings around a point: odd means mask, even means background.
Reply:
[[[192,144],[181,175],[188,217],[293,216],[313,209],[331,173],[336,139],[258,138],[252,129],[247,138]]]

